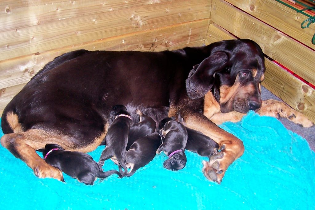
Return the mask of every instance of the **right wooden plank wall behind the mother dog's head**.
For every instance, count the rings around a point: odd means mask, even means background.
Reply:
[[[315,84],[315,24],[302,29],[303,14],[273,0],[213,0],[206,43],[249,38],[266,54],[263,86],[315,122],[315,91],[271,60]]]

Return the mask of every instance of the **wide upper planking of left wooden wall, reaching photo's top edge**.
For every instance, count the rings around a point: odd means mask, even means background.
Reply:
[[[29,2],[2,6],[0,60],[210,17],[209,0]]]

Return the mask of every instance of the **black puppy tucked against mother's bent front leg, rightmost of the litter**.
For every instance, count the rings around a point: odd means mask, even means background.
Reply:
[[[186,150],[205,157],[210,157],[218,152],[219,145],[213,139],[191,128],[186,128],[186,130],[188,134]]]

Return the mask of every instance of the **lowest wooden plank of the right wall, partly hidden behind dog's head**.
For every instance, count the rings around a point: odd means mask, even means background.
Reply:
[[[210,44],[235,38],[220,26],[210,24],[205,43]],[[314,89],[268,59],[265,59],[265,65],[266,73],[262,85],[315,123]]]

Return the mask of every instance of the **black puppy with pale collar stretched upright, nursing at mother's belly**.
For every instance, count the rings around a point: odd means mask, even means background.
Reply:
[[[104,162],[107,159],[112,158],[117,165],[123,167],[124,173],[127,173],[127,167],[124,164],[123,156],[125,156],[126,153],[128,134],[132,120],[129,112],[123,105],[115,105],[112,108],[109,117],[112,124],[109,126],[106,133],[106,148],[100,156],[99,163],[104,165]]]

